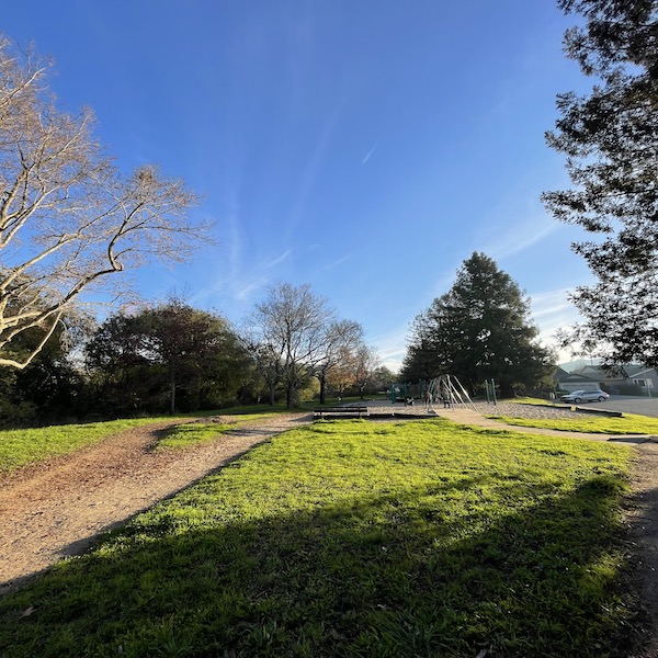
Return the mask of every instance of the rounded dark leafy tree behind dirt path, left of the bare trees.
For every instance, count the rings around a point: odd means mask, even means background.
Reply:
[[[122,411],[208,408],[231,400],[250,362],[220,316],[173,299],[116,315],[87,345],[99,394]],[[121,400],[121,401],[120,401]]]

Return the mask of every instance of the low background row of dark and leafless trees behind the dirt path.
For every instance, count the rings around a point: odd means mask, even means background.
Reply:
[[[24,368],[0,371],[0,422],[109,418],[372,394],[393,373],[363,328],[337,317],[309,285],[274,284],[237,329],[172,296],[102,324],[66,327]],[[16,339],[18,358],[41,340]],[[21,344],[19,344],[21,343]]]

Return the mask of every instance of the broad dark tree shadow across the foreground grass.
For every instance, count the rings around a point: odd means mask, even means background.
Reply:
[[[491,518],[485,479],[212,526],[164,507],[0,600],[0,655],[628,655],[619,483],[510,480],[525,507]]]

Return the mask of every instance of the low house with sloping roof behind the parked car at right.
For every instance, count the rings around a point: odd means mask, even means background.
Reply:
[[[628,364],[617,372],[599,365],[583,365],[568,372],[558,367],[554,379],[560,390],[592,390],[601,388],[612,395],[658,395],[658,372],[645,365]]]

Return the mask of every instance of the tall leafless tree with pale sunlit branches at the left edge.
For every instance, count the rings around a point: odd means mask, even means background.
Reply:
[[[154,259],[182,260],[211,227],[189,220],[197,198],[183,181],[152,166],[122,173],[92,135],[91,111],[56,107],[49,66],[0,37],[0,365],[16,368],[83,291],[107,291],[111,275]],[[35,327],[42,340],[19,355],[12,340]]]

